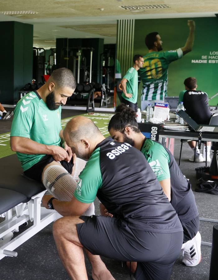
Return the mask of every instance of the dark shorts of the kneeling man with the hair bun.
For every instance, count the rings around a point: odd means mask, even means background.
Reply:
[[[181,224],[183,228],[183,243],[186,243],[188,240],[192,240],[192,238],[195,237],[197,232],[199,231],[199,216],[186,223],[181,222]]]

